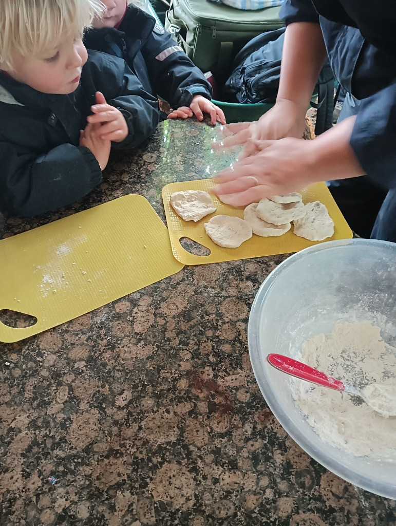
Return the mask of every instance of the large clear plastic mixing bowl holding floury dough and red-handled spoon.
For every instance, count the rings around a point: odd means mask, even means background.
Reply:
[[[379,325],[383,339],[396,346],[396,244],[351,239],[315,245],[283,261],[257,292],[249,317],[250,361],[268,406],[301,448],[344,480],[396,499],[396,462],[354,456],[324,442],[296,406],[290,377],[266,361],[270,352],[298,358],[308,338],[360,320]]]

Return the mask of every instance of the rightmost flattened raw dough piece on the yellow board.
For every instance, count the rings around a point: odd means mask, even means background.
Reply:
[[[334,222],[329,216],[326,206],[320,201],[305,205],[306,213],[301,219],[293,221],[296,236],[310,241],[322,241],[334,234]]]

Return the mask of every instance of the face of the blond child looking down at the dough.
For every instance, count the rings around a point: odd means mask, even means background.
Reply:
[[[67,95],[77,89],[81,69],[87,62],[87,50],[81,38],[61,38],[43,56],[17,55],[13,68],[4,68],[15,80],[42,93]]]

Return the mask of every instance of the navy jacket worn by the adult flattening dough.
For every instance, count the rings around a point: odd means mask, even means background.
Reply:
[[[354,153],[369,178],[396,188],[395,0],[286,0],[280,16],[320,24],[334,75],[361,100]]]

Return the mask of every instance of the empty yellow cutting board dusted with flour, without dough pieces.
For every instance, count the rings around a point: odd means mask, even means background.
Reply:
[[[19,341],[176,274],[168,230],[148,201],[127,195],[0,241],[0,311],[37,318],[0,322]],[[4,318],[3,318],[4,319]]]

